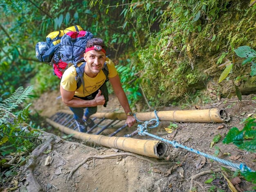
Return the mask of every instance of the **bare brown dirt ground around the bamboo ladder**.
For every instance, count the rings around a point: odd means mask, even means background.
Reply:
[[[59,92],[51,92],[41,96],[33,104],[34,110],[42,116],[50,117],[59,109],[67,109],[56,99]],[[243,128],[240,122],[248,116],[255,116],[256,103],[252,98],[255,95],[243,96],[242,102],[238,103],[237,98],[231,98],[224,101],[224,98],[218,102],[212,102],[207,105],[197,106],[200,109],[218,108],[225,109],[229,113],[231,120],[226,123],[180,123],[177,129],[172,133],[164,129],[170,122],[161,122],[159,127],[152,129],[150,133],[157,134],[166,139],[172,139],[178,143],[191,147],[200,152],[214,155],[216,148],[210,148],[214,136],[220,134],[222,137],[215,146],[220,148],[219,158],[231,161],[233,163],[246,163],[247,166],[256,170],[256,154],[239,150],[233,144],[224,145],[222,139],[232,127]],[[195,109],[195,106],[189,106],[188,109]],[[142,107],[137,106],[137,112]],[[157,110],[177,110],[177,107],[162,107]],[[187,110],[187,109],[184,109]],[[110,96],[108,108],[99,107],[98,112],[122,112],[122,108],[115,96]],[[113,129],[113,128],[112,128]],[[136,126],[125,129],[117,136],[123,136],[137,129]],[[107,134],[112,130],[103,132]],[[63,135],[63,134],[62,134]],[[90,156],[105,156],[109,154],[121,154],[123,151],[110,149],[79,141],[64,141],[58,136],[49,136],[54,138],[51,144],[46,148],[38,146],[36,151],[37,158],[33,159],[33,174],[40,185],[42,191],[61,191],[61,192],[228,192],[232,191],[224,174],[231,181],[232,173],[225,172],[222,168],[227,167],[235,171],[234,168],[227,165],[204,159],[198,154],[186,151],[181,148],[168,147],[168,152],[164,159],[155,159],[142,156],[123,155],[109,159],[92,158],[85,161]],[[149,137],[136,136],[140,139],[152,139]],[[43,150],[42,150],[43,149]],[[44,151],[44,153],[42,152]],[[47,151],[47,153],[45,152]],[[227,154],[227,155],[226,155]],[[47,160],[48,159],[48,160]],[[146,159],[146,160],[145,160]],[[162,163],[159,163],[162,162]],[[46,163],[46,164],[45,164]],[[81,166],[74,171],[75,167],[81,163]],[[26,165],[27,166],[27,165]],[[74,171],[69,178],[70,171]],[[210,172],[212,170],[213,172]],[[200,174],[201,173],[201,174]],[[211,183],[205,183],[213,178]],[[241,181],[239,181],[239,179]],[[31,182],[31,181],[30,181]],[[232,180],[237,191],[250,191],[255,186],[240,176]],[[23,184],[29,186],[29,181],[24,177]],[[33,191],[33,190],[32,190]],[[233,189],[234,191],[234,189]]]

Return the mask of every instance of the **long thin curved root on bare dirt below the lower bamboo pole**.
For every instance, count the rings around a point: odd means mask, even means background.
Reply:
[[[110,155],[101,155],[101,156],[97,156],[97,155],[92,155],[92,156],[88,156],[85,158],[85,160],[83,160],[81,163],[79,163],[78,165],[76,165],[76,167],[74,169],[72,169],[70,171],[70,173],[68,174],[67,176],[67,179],[66,181],[70,180],[73,173],[76,172],[76,170],[81,167],[84,163],[86,163],[87,161],[89,161],[90,159],[107,159],[107,158],[111,158],[111,157],[116,157],[116,156],[124,156],[124,155],[130,155],[130,156],[135,156],[137,159],[141,159],[141,160],[144,160],[144,161],[148,161],[149,163],[152,163],[153,165],[165,165],[165,164],[170,164],[170,162],[166,161],[166,162],[155,162],[155,161],[152,161],[148,158],[145,158],[145,157],[142,157],[142,156],[139,156],[137,154],[134,154],[134,153],[129,153],[129,152],[126,152],[126,153],[119,153],[119,154],[110,154]]]

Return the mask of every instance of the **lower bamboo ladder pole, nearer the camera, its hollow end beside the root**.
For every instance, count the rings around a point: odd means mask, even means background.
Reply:
[[[46,121],[53,127],[58,128],[59,130],[65,132],[66,134],[74,134],[73,137],[75,138],[88,140],[89,142],[95,142],[99,145],[103,145],[106,147],[112,147],[155,158],[162,158],[167,151],[167,145],[161,141],[86,134],[64,127],[63,125],[60,125],[48,118],[46,119]]]

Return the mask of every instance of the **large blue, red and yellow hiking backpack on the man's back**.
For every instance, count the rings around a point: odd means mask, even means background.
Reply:
[[[83,54],[85,53],[86,42],[93,37],[93,34],[83,29],[79,25],[69,27],[65,30],[54,31],[46,37],[46,42],[38,42],[36,44],[36,57],[38,60],[53,65],[54,74],[58,78],[62,78],[64,71],[74,66],[77,72],[76,82],[77,89],[83,84],[84,65],[78,67],[78,63],[83,62]],[[58,43],[59,42],[59,43]],[[108,81],[108,67],[103,67],[103,72]],[[106,86],[106,83],[104,83]],[[105,100],[107,100],[107,95]]]

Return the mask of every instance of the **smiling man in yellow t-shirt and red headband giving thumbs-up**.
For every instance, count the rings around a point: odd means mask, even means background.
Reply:
[[[74,119],[78,125],[80,132],[86,132],[87,126],[92,127],[94,122],[90,116],[97,112],[98,105],[104,105],[106,100],[101,94],[102,87],[106,80],[103,72],[104,64],[108,67],[108,79],[113,90],[124,108],[127,115],[126,124],[129,127],[136,122],[135,117],[130,109],[126,94],[121,87],[120,78],[115,69],[114,63],[106,58],[105,44],[102,39],[92,38],[88,40],[85,46],[85,54],[83,58],[86,62],[83,74],[84,87],[81,85],[77,89],[76,85],[76,69],[69,67],[63,74],[61,79],[61,96],[63,103],[70,107],[74,113]],[[106,85],[106,84],[105,84]],[[85,112],[83,111],[85,109]]]

